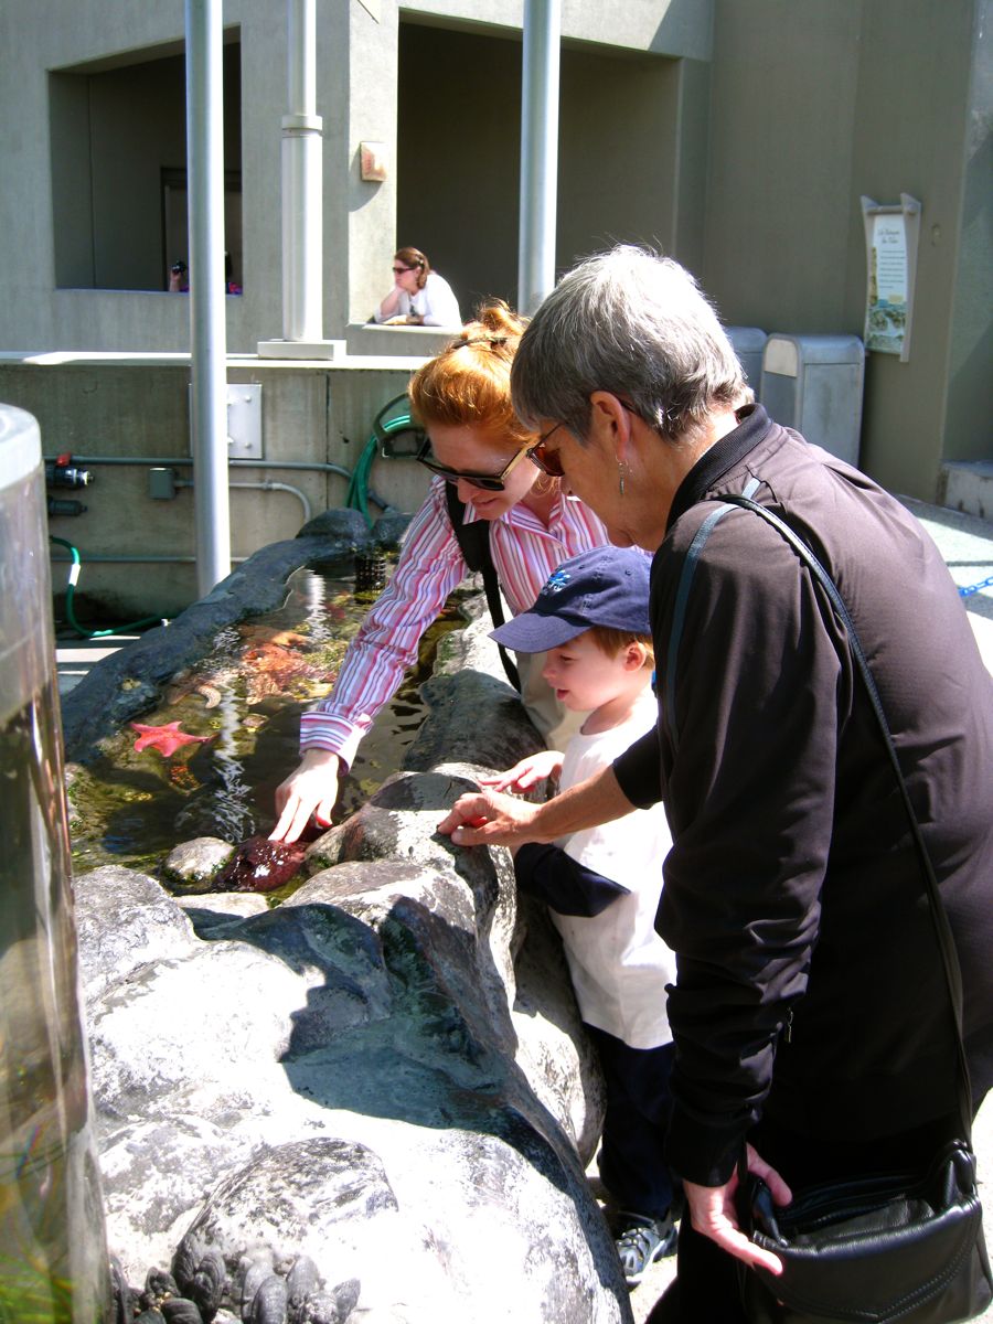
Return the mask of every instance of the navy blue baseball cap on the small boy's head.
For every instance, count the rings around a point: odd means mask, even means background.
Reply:
[[[594,547],[563,561],[535,605],[490,637],[518,653],[544,653],[593,625],[651,634],[649,568],[649,557],[634,547]]]

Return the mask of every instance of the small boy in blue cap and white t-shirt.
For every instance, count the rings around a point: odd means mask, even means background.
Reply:
[[[634,548],[598,547],[563,563],[535,605],[493,632],[519,653],[547,651],[543,675],[569,710],[588,712],[564,753],[524,759],[498,790],[544,777],[569,786],[613,763],[654,726],[649,561]],[[662,1158],[673,1037],[666,984],[675,957],[655,933],[662,861],[671,837],[662,805],[528,843],[514,857],[518,886],[545,902],[561,933],[580,1014],[606,1083],[600,1176],[617,1206],[614,1235],[634,1287],[675,1250],[674,1185]]]

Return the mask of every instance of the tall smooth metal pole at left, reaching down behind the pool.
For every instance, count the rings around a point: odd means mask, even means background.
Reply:
[[[221,0],[187,5],[191,432],[201,597],[230,575]]]

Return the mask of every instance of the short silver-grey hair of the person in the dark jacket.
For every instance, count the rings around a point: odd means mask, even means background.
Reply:
[[[583,441],[592,392],[609,391],[679,441],[716,405],[743,404],[745,384],[690,273],[622,244],[573,267],[544,299],[520,340],[511,391],[530,426],[555,420]]]

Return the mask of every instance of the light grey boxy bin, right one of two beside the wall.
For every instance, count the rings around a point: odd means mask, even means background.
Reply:
[[[776,422],[858,465],[865,365],[857,335],[771,332],[759,399]]]

